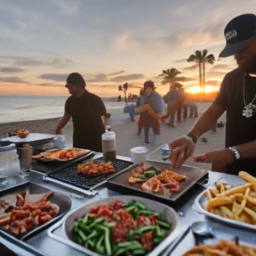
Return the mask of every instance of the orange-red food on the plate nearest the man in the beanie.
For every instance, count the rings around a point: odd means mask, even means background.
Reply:
[[[45,151],[40,154],[43,157],[48,159],[62,160],[62,159],[74,158],[78,155],[84,154],[84,152],[80,149],[68,148],[68,149],[56,149],[52,151]],[[33,158],[37,158],[37,157],[33,157]]]

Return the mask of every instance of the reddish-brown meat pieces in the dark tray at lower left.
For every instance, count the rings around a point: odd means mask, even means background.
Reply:
[[[17,194],[16,206],[0,200],[0,227],[19,234],[51,220],[59,210],[57,204],[46,201],[52,193],[40,196],[37,203],[24,203],[25,192]]]

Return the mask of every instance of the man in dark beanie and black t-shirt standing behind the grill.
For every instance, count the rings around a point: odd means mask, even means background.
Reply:
[[[85,89],[85,81],[79,73],[71,73],[66,78],[65,87],[71,94],[65,102],[65,112],[56,127],[56,134],[70,117],[73,121],[73,147],[102,151],[101,135],[105,126],[101,119],[106,114],[102,99]]]

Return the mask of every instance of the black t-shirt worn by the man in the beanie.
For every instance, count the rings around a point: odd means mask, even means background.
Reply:
[[[65,102],[65,112],[72,115],[73,147],[102,151],[105,126],[101,116],[106,114],[102,99],[87,91],[80,98],[71,95]]]

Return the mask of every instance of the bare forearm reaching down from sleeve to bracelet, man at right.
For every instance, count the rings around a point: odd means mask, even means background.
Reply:
[[[192,128],[186,134],[196,143],[197,138],[206,131],[212,129],[218,118],[223,114],[225,109],[217,104],[212,103],[197,119]]]

